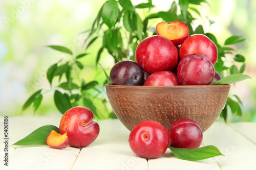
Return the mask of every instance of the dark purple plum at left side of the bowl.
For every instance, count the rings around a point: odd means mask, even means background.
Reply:
[[[142,67],[132,60],[119,61],[110,71],[110,81],[113,85],[143,85],[144,72]]]

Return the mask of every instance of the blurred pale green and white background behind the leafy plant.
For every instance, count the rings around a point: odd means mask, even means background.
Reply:
[[[0,1],[0,115],[60,114],[48,91],[36,113],[32,107],[22,112],[22,106],[38,89],[50,89],[46,71],[62,54],[46,45],[69,47],[75,54],[84,52],[84,31],[89,30],[104,0],[13,0]],[[133,5],[143,1],[132,1]],[[145,1],[147,2],[147,1]],[[145,3],[144,2],[144,3]],[[256,122],[256,1],[208,0],[200,12],[215,23],[209,25],[201,18],[205,32],[214,34],[220,44],[231,35],[246,38],[232,46],[246,58],[244,74],[252,79],[232,85],[231,93],[243,102],[243,115],[228,115],[228,122]],[[153,0],[155,10],[167,10],[172,1]],[[94,43],[90,55],[83,60],[82,76],[88,81],[102,77],[102,69],[95,66],[99,46]],[[100,63],[106,70],[114,65],[106,55]],[[104,55],[104,53],[103,53]],[[218,99],[216,99],[218,100]],[[231,113],[230,113],[231,114]]]

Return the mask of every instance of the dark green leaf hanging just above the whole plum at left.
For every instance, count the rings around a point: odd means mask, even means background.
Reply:
[[[55,90],[54,92],[54,103],[60,113],[64,114],[67,110],[71,108],[71,104],[69,99],[67,99],[67,95],[62,94],[60,91]]]

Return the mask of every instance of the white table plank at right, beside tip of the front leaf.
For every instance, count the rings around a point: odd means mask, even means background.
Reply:
[[[221,169],[256,169],[256,145],[225,123],[204,132],[204,145],[215,145],[225,156],[214,157]]]

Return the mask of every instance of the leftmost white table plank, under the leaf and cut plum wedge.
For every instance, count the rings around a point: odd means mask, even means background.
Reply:
[[[44,125],[59,126],[61,115],[57,117],[18,116],[9,118],[10,144],[24,138]],[[17,148],[17,149],[15,149]],[[80,149],[68,147],[63,150],[48,146],[12,146],[9,153],[8,169],[71,169]],[[63,163],[65,162],[65,163]],[[1,169],[6,166],[1,163]]]

